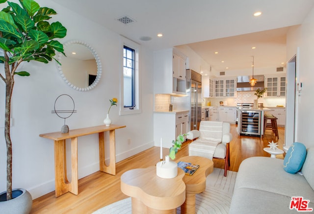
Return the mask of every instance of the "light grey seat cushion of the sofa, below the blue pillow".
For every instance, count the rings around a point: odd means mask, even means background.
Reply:
[[[252,157],[242,161],[235,181],[235,190],[239,188],[268,191],[288,197],[302,196],[314,202],[314,190],[307,180],[300,174],[287,173],[283,169],[283,160],[278,158]]]

